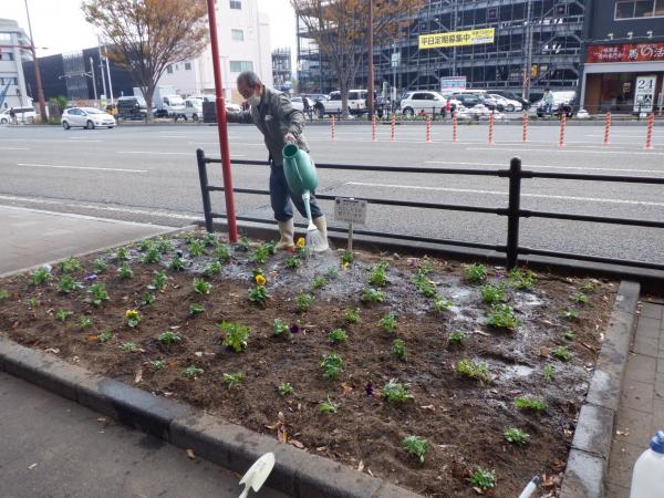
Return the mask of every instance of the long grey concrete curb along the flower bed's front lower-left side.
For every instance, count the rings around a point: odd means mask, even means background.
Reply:
[[[230,470],[243,473],[273,452],[267,485],[297,498],[418,498],[383,479],[226,423],[201,409],[155,396],[0,335],[0,371],[23,378],[125,425],[153,434]]]

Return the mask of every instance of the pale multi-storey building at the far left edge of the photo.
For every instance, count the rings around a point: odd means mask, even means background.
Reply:
[[[32,98],[25,92],[22,58],[30,45],[25,32],[11,19],[0,19],[0,102],[1,108],[29,107]]]

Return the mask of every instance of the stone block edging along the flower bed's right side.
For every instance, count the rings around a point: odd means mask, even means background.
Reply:
[[[635,323],[640,286],[622,281],[585,403],[579,413],[560,498],[603,498],[615,415]]]

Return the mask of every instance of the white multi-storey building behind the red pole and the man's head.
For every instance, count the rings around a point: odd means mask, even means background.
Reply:
[[[236,90],[236,79],[242,71],[255,71],[272,86],[270,19],[258,10],[258,0],[217,0],[217,37],[227,100],[242,102]],[[196,59],[170,64],[159,85],[173,85],[180,95],[214,93],[210,46]]]

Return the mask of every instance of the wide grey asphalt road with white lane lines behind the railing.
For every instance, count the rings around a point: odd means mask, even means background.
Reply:
[[[267,152],[252,126],[230,128],[231,157],[264,160]],[[435,125],[432,143],[425,128],[378,126],[371,142],[369,126],[338,126],[332,142],[328,126],[307,129],[319,163],[398,165],[452,168],[506,168],[520,156],[523,168],[537,172],[615,174],[664,177],[664,128],[655,127],[654,151],[645,151],[645,124],[614,126],[611,145],[602,145],[603,126],[569,126],[566,146],[557,146],[556,126],[531,126],[521,144],[520,126],[496,126],[495,145],[487,125],[459,126],[457,143],[449,125]],[[168,226],[201,219],[195,151],[218,155],[216,128],[209,126],[120,126],[115,129],[0,127],[0,204],[34,207]],[[220,169],[210,166],[210,181]],[[267,188],[263,166],[234,166],[236,187]],[[319,191],[357,198],[396,198],[471,206],[507,205],[507,180],[476,176],[320,172]],[[527,179],[522,208],[622,218],[664,219],[662,186]],[[222,195],[212,198],[224,210]],[[237,211],[271,219],[269,200],[237,195]],[[328,212],[330,203],[323,203]],[[331,216],[330,216],[331,218]],[[407,232],[485,243],[505,243],[504,217],[373,206],[369,229]],[[579,221],[525,219],[521,245],[554,251],[582,252],[662,262],[664,230]]]

